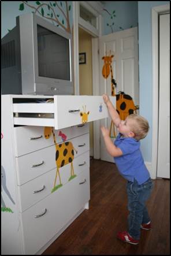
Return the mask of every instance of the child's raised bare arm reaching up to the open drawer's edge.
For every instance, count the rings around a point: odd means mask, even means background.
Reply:
[[[119,114],[117,113],[116,109],[111,103],[109,96],[107,94],[103,94],[102,97],[103,97],[103,101],[106,103],[106,106],[109,110],[111,120],[113,120],[113,123],[116,125],[116,127],[118,127],[119,124],[121,123],[121,118]]]

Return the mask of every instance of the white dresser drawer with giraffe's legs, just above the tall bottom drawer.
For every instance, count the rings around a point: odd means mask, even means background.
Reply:
[[[75,175],[80,175],[81,172],[86,171],[90,167],[89,158],[90,153],[89,151],[87,151],[73,160],[73,169]],[[62,185],[65,185],[68,182],[73,182],[73,179],[69,181],[70,168],[70,164],[60,168],[60,177]],[[41,175],[34,180],[31,180],[21,186],[18,186],[20,212],[24,212],[32,205],[35,205],[35,203],[39,202],[47,195],[51,194],[51,190],[54,186],[56,171],[57,168],[50,170],[47,173],[44,173],[44,175]],[[59,183],[60,181],[59,179],[57,179],[56,184]]]

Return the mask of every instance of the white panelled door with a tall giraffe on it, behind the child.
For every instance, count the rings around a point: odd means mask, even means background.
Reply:
[[[138,75],[138,41],[137,27],[125,29],[124,31],[114,32],[113,34],[99,38],[99,81],[101,94],[111,95],[111,76],[107,79],[102,76],[103,60],[102,57],[114,54],[112,68],[113,78],[116,80],[118,91],[124,91],[129,94],[135,103],[139,105],[139,75]],[[110,118],[101,120],[101,125],[110,128]],[[101,159],[113,162],[105,148],[101,135]]]

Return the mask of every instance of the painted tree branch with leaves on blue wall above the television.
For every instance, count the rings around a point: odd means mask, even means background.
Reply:
[[[68,6],[67,1],[61,1],[60,5],[57,1],[44,2],[44,1],[32,1],[33,5],[29,4],[28,1],[22,1],[19,6],[19,10],[23,11],[25,6],[28,6],[33,13],[39,13],[40,16],[51,20],[54,25],[60,26],[65,29],[66,32],[71,33],[70,23],[69,23],[69,11],[71,6]],[[65,11],[63,5],[65,4]],[[57,13],[57,11],[60,11]]]

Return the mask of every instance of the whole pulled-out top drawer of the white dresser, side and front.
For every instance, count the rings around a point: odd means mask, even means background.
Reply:
[[[54,95],[29,99],[36,101],[13,103],[14,124],[62,129],[108,117],[102,96]],[[46,99],[49,100],[46,102]],[[116,97],[110,97],[110,100],[116,105]]]

